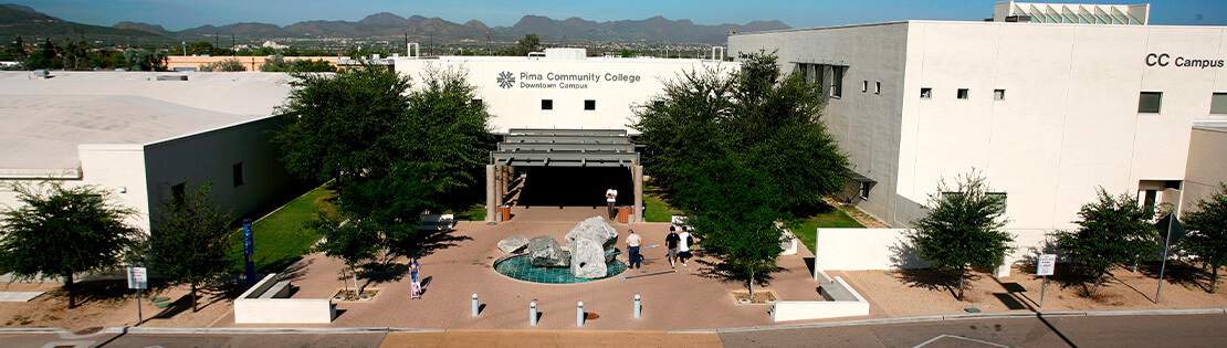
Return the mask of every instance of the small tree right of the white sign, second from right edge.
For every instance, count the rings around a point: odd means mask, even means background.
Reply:
[[[1098,187],[1097,195],[1098,201],[1082,205],[1079,211],[1077,230],[1053,233],[1056,249],[1076,259],[1092,277],[1094,287],[1087,292],[1090,297],[1094,297],[1109,268],[1153,254],[1158,238],[1148,223],[1153,213],[1137,205],[1136,199],[1129,194],[1113,197],[1103,187]],[[1082,287],[1086,289],[1085,283]]]

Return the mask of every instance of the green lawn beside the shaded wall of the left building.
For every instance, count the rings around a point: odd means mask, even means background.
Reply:
[[[315,218],[315,212],[335,212],[330,199],[335,192],[323,185],[294,199],[272,214],[252,224],[255,240],[255,268],[259,273],[280,272],[319,240],[319,235],[303,228],[303,224]],[[234,255],[238,270],[243,270],[243,233],[234,238]]]

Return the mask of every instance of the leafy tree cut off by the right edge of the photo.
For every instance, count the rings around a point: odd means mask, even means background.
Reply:
[[[1196,211],[1185,212],[1184,225],[1194,233],[1180,246],[1212,267],[1210,293],[1215,293],[1218,267],[1227,265],[1227,184],[1218,183],[1218,191],[1199,200]]]

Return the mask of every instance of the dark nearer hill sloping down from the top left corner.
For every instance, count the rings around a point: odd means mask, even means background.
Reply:
[[[65,38],[85,38],[91,42],[135,42],[139,44],[157,45],[174,42],[169,37],[135,28],[74,23],[40,13],[27,6],[13,4],[0,5],[0,39],[10,40],[17,36],[21,36],[27,43],[33,43],[40,38],[50,38],[56,42]]]

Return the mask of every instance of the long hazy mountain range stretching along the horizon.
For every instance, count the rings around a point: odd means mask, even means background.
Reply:
[[[49,26],[55,23],[58,26]],[[18,29],[20,28],[20,29]],[[454,23],[439,17],[410,16],[401,17],[389,12],[379,12],[357,22],[350,21],[304,21],[286,27],[270,23],[233,23],[226,26],[201,26],[178,32],[167,31],[160,25],[141,22],[120,22],[114,27],[98,27],[72,23],[34,11],[20,5],[0,5],[0,32],[29,34],[42,32],[42,36],[63,36],[77,33],[85,36],[141,36],[150,42],[156,40],[201,40],[216,36],[231,36],[245,40],[266,40],[279,38],[401,38],[415,39],[432,37],[436,40],[514,40],[525,34],[536,33],[542,43],[571,40],[602,42],[648,42],[648,43],[703,43],[723,44],[729,31],[756,32],[787,29],[780,21],[753,21],[746,25],[696,25],[690,20],[666,20],[661,16],[642,21],[595,22],[579,17],[562,21],[524,16],[510,27],[488,27],[481,21],[471,20]],[[109,29],[109,31],[107,31]]]

